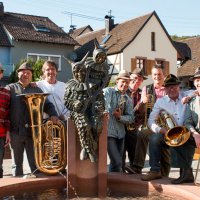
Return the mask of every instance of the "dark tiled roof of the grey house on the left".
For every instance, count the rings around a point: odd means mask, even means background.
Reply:
[[[76,41],[53,23],[48,17],[4,13],[1,23],[14,40],[75,45]],[[36,31],[32,24],[44,25],[50,32]]]

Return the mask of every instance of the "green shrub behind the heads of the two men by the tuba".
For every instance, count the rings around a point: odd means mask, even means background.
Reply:
[[[44,60],[39,59],[37,61],[33,61],[32,59],[21,59],[20,62],[18,64],[16,64],[14,71],[12,72],[12,74],[10,75],[10,82],[14,83],[18,81],[18,77],[17,77],[17,69],[19,68],[19,66],[24,63],[24,62],[28,62],[32,67],[33,67],[33,78],[32,81],[38,81],[41,79],[41,75],[42,75],[42,65],[44,64]]]

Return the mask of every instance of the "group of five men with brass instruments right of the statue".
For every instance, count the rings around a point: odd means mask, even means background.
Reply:
[[[110,116],[108,141],[112,141],[108,143],[109,169],[113,172],[141,174],[149,148],[150,171],[141,176],[143,181],[168,177],[170,168],[175,167],[180,168],[180,176],[172,180],[172,184],[194,182],[192,160],[200,139],[200,68],[192,78],[196,90],[187,92],[181,91],[179,79],[173,74],[165,75],[160,65],[152,68],[153,84],[144,86],[141,91],[139,87],[145,79],[140,69],[135,69],[132,73],[121,71],[116,80],[116,87],[112,89],[113,94],[109,95],[110,100],[105,98],[108,104],[106,111]],[[120,94],[127,99],[123,111],[119,111],[118,106],[113,108],[113,101],[120,99]],[[133,105],[132,113],[128,110],[130,99]],[[172,141],[166,142],[170,130],[167,124],[158,123],[161,113],[164,113],[164,116],[167,114],[174,123],[174,136],[169,136],[169,140]],[[129,124],[130,121],[125,119],[128,116],[131,119],[131,115],[133,121]],[[114,124],[121,125],[123,131],[114,129]],[[128,165],[125,163],[126,154],[129,159]]]

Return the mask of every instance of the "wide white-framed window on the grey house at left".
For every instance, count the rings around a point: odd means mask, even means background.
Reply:
[[[56,65],[58,66],[58,71],[61,71],[61,56],[60,55],[48,55],[48,54],[35,54],[35,53],[28,53],[28,59],[32,59],[33,61],[42,59],[42,60],[53,60]]]

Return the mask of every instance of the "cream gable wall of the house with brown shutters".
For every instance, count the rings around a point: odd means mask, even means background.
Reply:
[[[155,32],[156,51],[151,51],[151,32]],[[122,68],[130,71],[131,58],[137,56],[150,60],[154,60],[155,58],[165,59],[169,61],[170,73],[177,75],[177,51],[155,16],[152,16],[134,41],[124,49],[123,59],[121,60],[124,62],[120,65]],[[152,82],[151,78],[145,84],[148,82]]]

